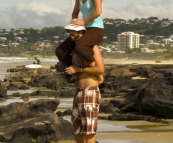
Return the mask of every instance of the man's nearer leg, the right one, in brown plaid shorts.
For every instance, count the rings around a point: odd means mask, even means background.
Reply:
[[[95,143],[97,117],[100,104],[99,89],[98,87],[87,87],[85,89],[82,89],[77,98],[78,101],[80,101],[80,104],[78,102],[78,108],[80,109],[79,113],[82,123],[82,132],[84,135],[83,143]],[[80,141],[82,141],[81,137],[79,137],[79,139]]]

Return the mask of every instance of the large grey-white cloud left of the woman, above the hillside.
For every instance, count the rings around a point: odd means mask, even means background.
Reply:
[[[0,28],[38,28],[64,26],[70,20],[70,9],[66,6],[63,11],[44,3],[19,3],[0,13]],[[2,27],[3,26],[3,27]]]

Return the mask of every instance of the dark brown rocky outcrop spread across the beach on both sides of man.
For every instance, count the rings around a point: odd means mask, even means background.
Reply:
[[[147,120],[167,123],[173,119],[173,65],[105,65],[104,83],[100,85],[100,112],[109,113],[108,120]],[[46,87],[31,94],[14,93],[14,97],[29,96],[72,97],[74,80],[50,69],[9,69],[0,81],[0,98],[9,90]],[[135,78],[136,77],[136,78]],[[22,84],[18,84],[18,83]],[[6,86],[5,86],[6,85]],[[56,99],[56,98],[55,98]],[[12,103],[0,107],[0,142],[50,143],[73,139],[70,123],[61,116],[71,110],[54,113],[58,100],[38,100]]]

